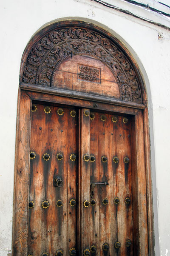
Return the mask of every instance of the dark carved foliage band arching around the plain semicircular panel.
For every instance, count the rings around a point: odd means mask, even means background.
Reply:
[[[110,68],[119,85],[120,99],[142,102],[135,71],[123,51],[104,35],[88,28],[66,26],[42,36],[28,53],[22,82],[53,87],[59,65],[77,54],[93,56]]]

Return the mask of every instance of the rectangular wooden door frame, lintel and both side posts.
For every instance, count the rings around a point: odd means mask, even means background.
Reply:
[[[133,116],[132,147],[133,155],[133,209],[134,235],[138,255],[154,256],[153,234],[153,199],[150,169],[150,137],[148,109],[142,104],[128,102],[110,102],[96,100],[86,96],[74,97],[63,91],[58,95],[51,88],[38,88],[34,85],[20,85],[17,108],[17,134],[14,174],[14,210],[13,210],[13,256],[27,256],[28,237],[28,189],[29,189],[29,153],[31,134],[31,105],[32,101],[45,104],[66,104],[79,108],[98,109],[118,114]],[[141,125],[143,123],[143,125]],[[136,161],[137,159],[137,161]],[[135,207],[134,207],[135,205]],[[137,249],[136,249],[137,250]]]

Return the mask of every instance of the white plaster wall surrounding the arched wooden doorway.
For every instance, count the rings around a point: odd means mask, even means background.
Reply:
[[[119,2],[116,0],[118,6]],[[128,9],[129,5],[125,7]],[[150,17],[149,12],[146,15]],[[0,256],[11,255],[21,56],[31,36],[41,26],[65,17],[100,23],[125,43],[141,68],[149,98],[156,256],[170,256],[170,31],[90,0],[0,2]],[[158,33],[162,34],[161,40]]]

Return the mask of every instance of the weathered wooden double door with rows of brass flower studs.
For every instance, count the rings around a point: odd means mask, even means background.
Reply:
[[[32,105],[28,255],[131,256],[131,118]]]

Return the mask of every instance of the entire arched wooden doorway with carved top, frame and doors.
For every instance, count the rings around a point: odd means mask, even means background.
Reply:
[[[127,50],[78,21],[20,70],[14,255],[151,255],[146,92]]]

